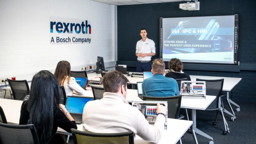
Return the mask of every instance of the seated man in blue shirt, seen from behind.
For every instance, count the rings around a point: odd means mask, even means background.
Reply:
[[[143,96],[178,96],[178,83],[173,78],[164,76],[165,64],[160,59],[152,62],[152,77],[142,82]]]

